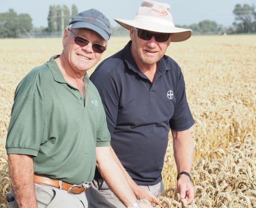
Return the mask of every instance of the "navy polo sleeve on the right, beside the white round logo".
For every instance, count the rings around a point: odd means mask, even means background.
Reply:
[[[179,74],[178,88],[176,91],[176,105],[174,115],[169,121],[170,128],[176,131],[184,131],[189,129],[195,123],[189,104],[187,102],[185,82],[182,72]]]

